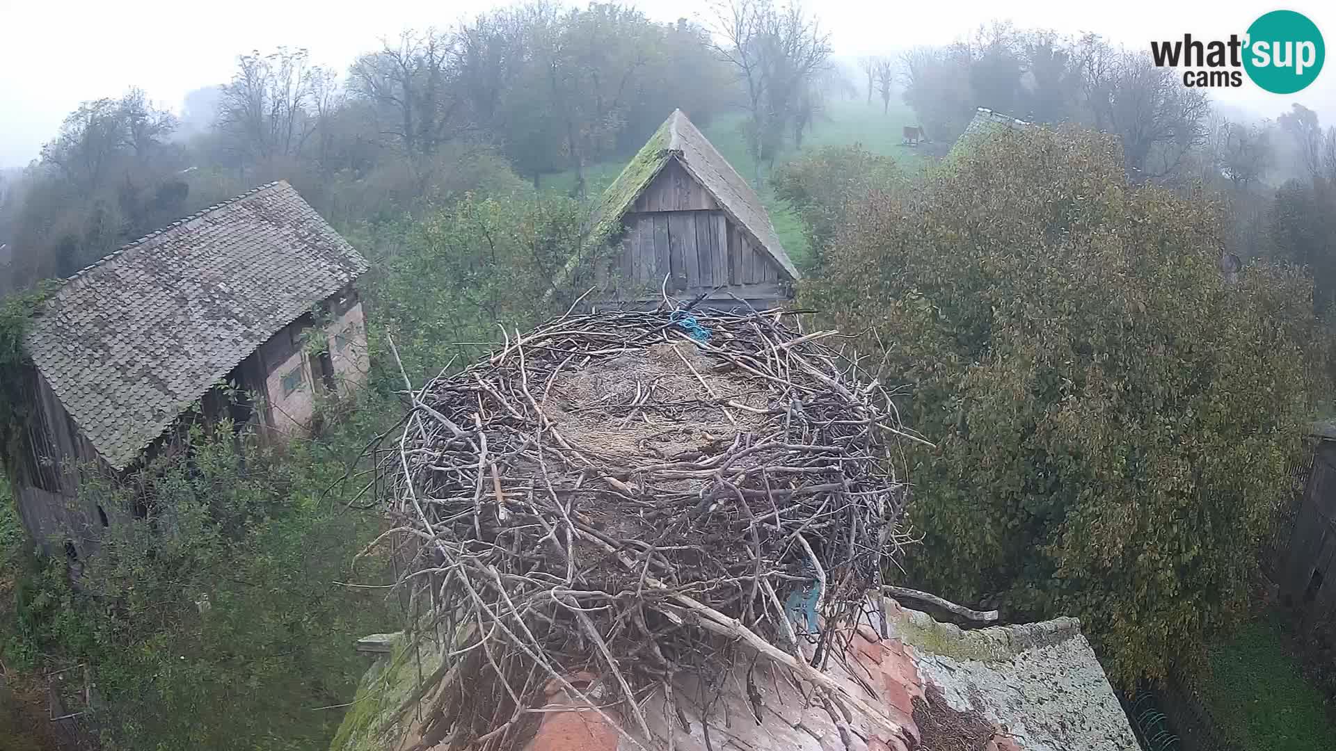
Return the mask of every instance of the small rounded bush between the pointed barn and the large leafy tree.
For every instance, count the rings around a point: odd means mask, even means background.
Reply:
[[[775,195],[787,202],[807,229],[808,265],[820,266],[826,246],[844,223],[848,207],[875,190],[890,190],[903,176],[890,156],[862,144],[826,146],[784,164],[771,179]]]

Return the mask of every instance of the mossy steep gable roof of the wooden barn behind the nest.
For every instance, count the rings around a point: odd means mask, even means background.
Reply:
[[[620,222],[636,198],[673,159],[705,186],[724,212],[751,235],[784,273],[798,279],[798,269],[784,253],[760,196],[681,110],[673,110],[672,115],[668,115],[664,124],[659,126],[655,135],[649,136],[631,163],[604,191],[593,214],[595,237],[601,235],[612,223]]]

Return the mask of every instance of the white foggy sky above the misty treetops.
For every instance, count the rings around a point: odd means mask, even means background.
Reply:
[[[180,111],[186,92],[226,82],[240,52],[279,44],[310,49],[311,60],[345,71],[381,37],[409,27],[448,27],[496,1],[390,0],[345,3],[183,3],[163,0],[59,1],[0,0],[0,168],[20,167],[37,155],[61,119],[80,102],[144,88],[158,104]],[[660,21],[711,17],[708,0],[640,0]],[[1242,33],[1267,11],[1305,13],[1336,44],[1336,3],[1271,5],[1257,1],[1114,0],[808,0],[832,32],[836,55],[854,56],[945,44],[982,23],[1010,19],[1021,28],[1059,33],[1096,32],[1145,51],[1152,39],[1198,39]],[[1246,76],[1245,76],[1246,78]],[[1336,126],[1336,61],[1297,95],[1273,95],[1245,82],[1242,90],[1210,90],[1259,116],[1275,118],[1292,102],[1317,110]]]

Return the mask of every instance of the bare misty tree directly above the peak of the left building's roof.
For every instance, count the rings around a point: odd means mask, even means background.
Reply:
[[[222,88],[219,131],[257,164],[297,156],[315,127],[307,111],[313,73],[306,49],[239,56],[231,83]]]

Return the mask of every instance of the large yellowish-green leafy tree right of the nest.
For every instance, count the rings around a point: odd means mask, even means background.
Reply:
[[[1031,128],[851,214],[807,302],[867,330],[937,444],[910,573],[1075,615],[1130,684],[1238,616],[1289,493],[1317,325],[1296,271],[1218,271],[1213,207],[1117,140]]]

